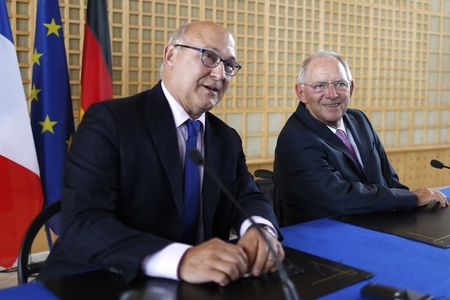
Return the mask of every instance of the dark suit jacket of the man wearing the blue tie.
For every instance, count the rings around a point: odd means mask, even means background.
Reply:
[[[248,173],[240,137],[206,114],[205,161],[251,215],[271,221],[271,205]],[[245,219],[203,177],[204,237],[228,239]],[[160,83],[141,94],[93,105],[66,162],[62,235],[39,278],[112,268],[134,278],[143,259],[182,228],[183,169],[174,119]]]

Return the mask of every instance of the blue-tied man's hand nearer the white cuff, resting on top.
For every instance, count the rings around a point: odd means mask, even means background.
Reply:
[[[245,251],[220,239],[211,239],[186,251],[178,267],[180,279],[190,283],[216,282],[225,286],[248,269]]]

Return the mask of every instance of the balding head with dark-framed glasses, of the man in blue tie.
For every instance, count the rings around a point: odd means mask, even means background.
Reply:
[[[191,22],[170,37],[164,49],[161,79],[195,119],[223,98],[235,75],[230,75],[230,65],[238,65],[233,36],[220,24]]]

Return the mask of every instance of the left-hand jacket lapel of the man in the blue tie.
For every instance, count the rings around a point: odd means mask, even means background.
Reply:
[[[155,145],[170,182],[173,198],[180,213],[183,212],[183,170],[175,124],[161,82],[149,91],[145,100],[148,132]]]

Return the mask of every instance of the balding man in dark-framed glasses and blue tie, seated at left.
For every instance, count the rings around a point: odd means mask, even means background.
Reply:
[[[102,268],[126,280],[143,271],[226,285],[274,270],[257,230],[198,166],[194,177],[200,180],[193,186],[202,192],[193,221],[186,222],[192,208],[184,207],[190,193],[183,191],[192,179],[183,171],[191,138],[187,122],[197,122],[194,147],[284,257],[275,215],[248,173],[238,134],[208,112],[239,68],[225,28],[189,23],[165,48],[161,82],[86,112],[66,164],[62,235],[40,279]],[[224,241],[230,229],[240,237],[237,244]]]

